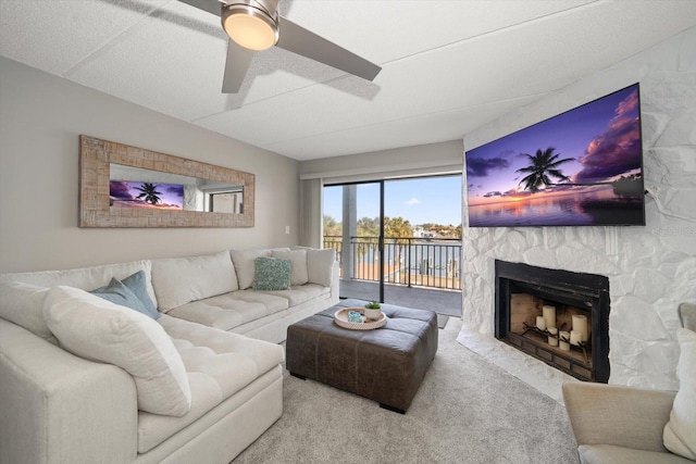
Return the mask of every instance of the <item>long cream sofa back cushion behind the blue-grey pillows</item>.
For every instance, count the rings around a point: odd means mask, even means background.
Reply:
[[[65,285],[90,291],[99,287],[108,286],[112,278],[123,280],[138,271],[144,271],[148,296],[157,308],[154,289],[152,288],[150,279],[151,269],[152,263],[149,260],[140,260],[75,269],[0,274],[0,281],[21,281],[45,288]]]

